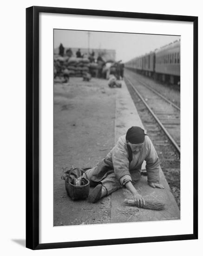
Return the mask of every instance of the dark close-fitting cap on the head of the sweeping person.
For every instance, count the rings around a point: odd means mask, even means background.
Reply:
[[[128,129],[126,136],[126,141],[132,144],[139,144],[144,142],[144,130],[138,126],[132,126]]]

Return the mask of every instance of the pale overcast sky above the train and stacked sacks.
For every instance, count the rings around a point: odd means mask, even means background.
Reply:
[[[88,48],[88,31],[54,29],[54,48],[62,43],[64,47]],[[154,51],[180,36],[127,34],[112,32],[90,32],[90,49],[115,49],[116,60],[129,61],[134,57]]]

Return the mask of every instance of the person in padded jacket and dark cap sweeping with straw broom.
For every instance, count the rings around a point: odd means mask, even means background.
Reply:
[[[141,177],[144,160],[148,184],[153,188],[164,189],[159,183],[160,165],[157,152],[144,130],[133,126],[128,129],[126,135],[119,137],[117,144],[105,159],[86,171],[90,186],[95,187],[88,201],[98,202],[102,197],[125,187],[131,191],[138,205],[144,205],[144,198],[133,186]]]

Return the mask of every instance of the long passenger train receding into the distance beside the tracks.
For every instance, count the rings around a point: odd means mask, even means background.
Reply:
[[[126,62],[125,67],[158,81],[180,84],[180,40],[136,57]]]

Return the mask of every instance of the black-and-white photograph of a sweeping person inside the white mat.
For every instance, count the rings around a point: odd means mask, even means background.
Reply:
[[[181,36],[55,28],[53,46],[53,226],[180,220]]]

